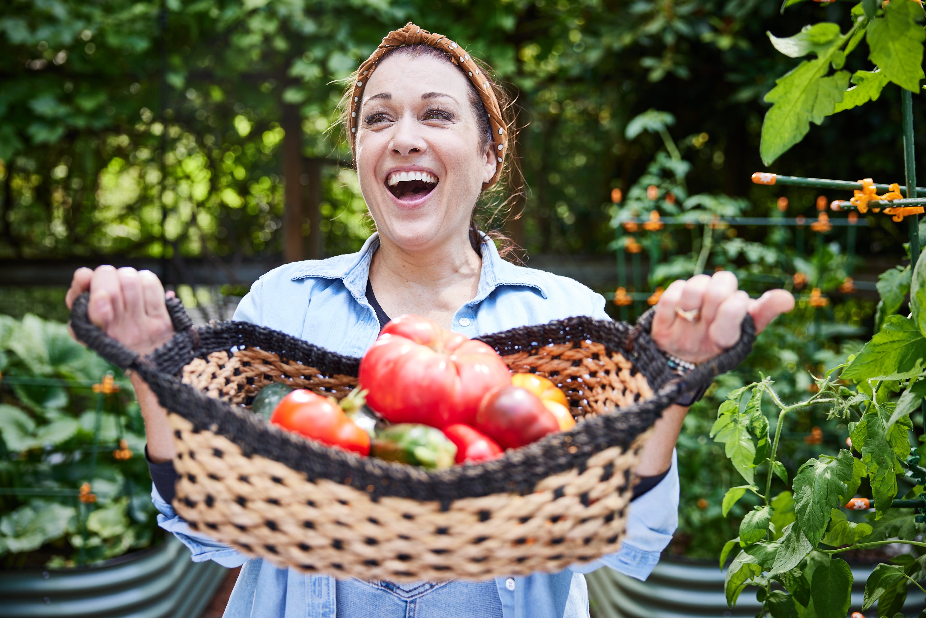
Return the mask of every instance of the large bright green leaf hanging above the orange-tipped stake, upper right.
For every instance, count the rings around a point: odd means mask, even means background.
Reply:
[[[834,51],[834,50],[833,50]],[[843,100],[849,85],[848,71],[824,77],[830,69],[832,55],[805,60],[776,80],[765,102],[772,107],[762,122],[759,154],[766,165],[779,158],[810,131],[810,123],[820,124]]]

